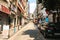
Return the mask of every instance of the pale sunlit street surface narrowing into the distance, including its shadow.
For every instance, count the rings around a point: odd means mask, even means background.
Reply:
[[[37,27],[30,22],[8,40],[44,40],[44,38]]]

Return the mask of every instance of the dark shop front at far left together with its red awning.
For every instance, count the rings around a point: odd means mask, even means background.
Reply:
[[[0,33],[4,30],[4,25],[9,25],[10,10],[0,5]]]

